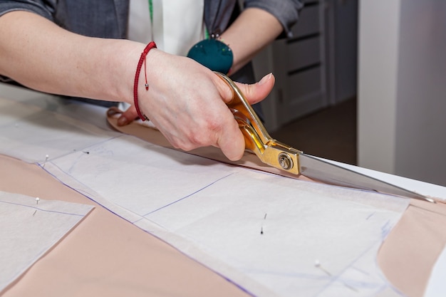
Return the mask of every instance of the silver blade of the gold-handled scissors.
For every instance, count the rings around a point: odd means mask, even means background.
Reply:
[[[430,198],[412,192],[408,189],[398,187],[395,184],[390,184],[380,179],[369,177],[360,172],[349,170],[348,168],[320,160],[304,153],[299,154],[299,164],[302,175],[326,184],[365,189],[373,192],[381,192],[385,194],[393,194],[402,197],[434,202]]]

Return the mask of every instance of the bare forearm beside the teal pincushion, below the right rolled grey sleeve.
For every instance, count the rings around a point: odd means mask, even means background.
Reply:
[[[232,49],[234,63],[231,73],[251,61],[262,48],[279,36],[283,27],[269,12],[261,9],[245,9],[234,23],[222,34],[222,41]]]

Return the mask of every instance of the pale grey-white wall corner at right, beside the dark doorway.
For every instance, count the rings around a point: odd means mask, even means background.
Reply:
[[[446,185],[446,1],[363,0],[358,165]]]

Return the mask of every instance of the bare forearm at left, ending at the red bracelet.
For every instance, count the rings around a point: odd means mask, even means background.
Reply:
[[[144,45],[79,36],[26,11],[1,16],[0,28],[2,75],[47,93],[131,100]]]

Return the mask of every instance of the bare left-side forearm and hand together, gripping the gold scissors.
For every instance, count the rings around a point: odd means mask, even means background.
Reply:
[[[133,102],[133,78],[142,43],[91,38],[68,32],[27,11],[0,17],[0,74],[46,93]],[[82,46],[79,46],[79,45]],[[232,91],[219,76],[190,58],[152,49],[138,85],[139,105],[173,146],[182,150],[214,145],[239,160],[244,137],[225,101]],[[274,77],[239,85],[251,104],[264,99]],[[123,115],[136,118],[132,108]],[[122,124],[122,119],[121,122]]]

